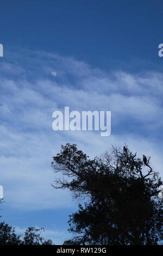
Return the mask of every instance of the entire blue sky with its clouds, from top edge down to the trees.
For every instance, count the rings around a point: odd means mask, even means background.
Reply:
[[[46,228],[61,243],[77,209],[53,190],[60,145],[90,156],[126,142],[152,156],[162,175],[161,1],[5,1],[1,3],[0,184],[2,219],[23,231]],[[53,77],[51,72],[57,72]],[[111,111],[111,136],[53,131],[52,113]]]

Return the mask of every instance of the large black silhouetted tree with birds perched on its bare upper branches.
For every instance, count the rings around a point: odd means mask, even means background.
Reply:
[[[64,175],[53,186],[87,201],[70,216],[75,235],[65,245],[156,245],[163,240],[162,181],[150,157],[145,166],[125,146],[90,160],[68,143],[53,157],[55,172]]]

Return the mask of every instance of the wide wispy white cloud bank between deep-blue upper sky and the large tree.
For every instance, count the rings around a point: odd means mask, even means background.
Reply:
[[[23,52],[1,64],[1,184],[5,200],[16,208],[52,209],[73,205],[65,191],[54,191],[50,167],[60,145],[76,143],[95,156],[111,144],[128,143],[162,166],[162,74],[112,74],[84,62],[45,52]],[[57,76],[51,72],[56,70]],[[111,136],[92,131],[53,131],[52,113],[112,111]]]

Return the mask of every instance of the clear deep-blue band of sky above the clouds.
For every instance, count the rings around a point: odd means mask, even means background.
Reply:
[[[7,0],[1,2],[1,41],[106,69],[139,58],[161,65],[162,15],[159,0]]]

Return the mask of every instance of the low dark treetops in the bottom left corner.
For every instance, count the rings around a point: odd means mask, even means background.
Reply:
[[[0,223],[0,245],[52,245],[52,240],[40,236],[43,228],[29,227],[24,235],[16,234],[15,228],[7,223]]]

